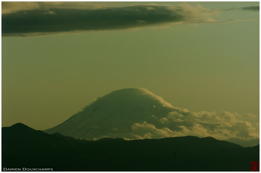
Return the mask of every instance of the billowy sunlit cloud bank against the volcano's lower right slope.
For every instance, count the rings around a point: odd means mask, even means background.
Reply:
[[[183,110],[175,108],[176,110]],[[251,141],[256,144],[259,139],[259,122],[250,123],[242,121],[241,117],[256,118],[256,115],[248,113],[239,115],[223,111],[216,112],[190,112],[172,111],[165,117],[157,118],[153,116],[153,121],[134,123],[131,126],[133,139],[163,138],[176,136],[211,136],[218,140],[227,140],[241,145],[251,145]],[[158,121],[159,123],[157,123]],[[157,124],[157,126],[155,125]]]

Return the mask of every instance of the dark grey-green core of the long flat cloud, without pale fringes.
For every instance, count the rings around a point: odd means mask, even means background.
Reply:
[[[2,15],[2,34],[105,30],[181,21],[184,16],[165,7],[143,6],[108,9],[26,10]]]

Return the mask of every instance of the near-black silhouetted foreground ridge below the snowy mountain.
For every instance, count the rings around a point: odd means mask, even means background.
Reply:
[[[250,171],[252,161],[259,161],[259,145],[244,148],[213,137],[86,141],[22,123],[2,127],[2,171]]]

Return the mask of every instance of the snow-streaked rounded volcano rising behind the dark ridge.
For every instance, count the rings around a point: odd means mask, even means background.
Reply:
[[[143,88],[121,89],[99,97],[83,111],[44,132],[59,132],[86,140],[103,137],[139,139],[133,134],[135,123],[150,122],[159,127],[162,125],[159,119],[164,121],[164,117],[172,111],[187,110],[173,107]]]

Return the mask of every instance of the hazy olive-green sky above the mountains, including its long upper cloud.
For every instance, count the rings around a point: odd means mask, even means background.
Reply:
[[[259,2],[10,3],[2,2],[2,127],[48,129],[132,87],[259,122]],[[83,28],[91,31],[75,31]]]

